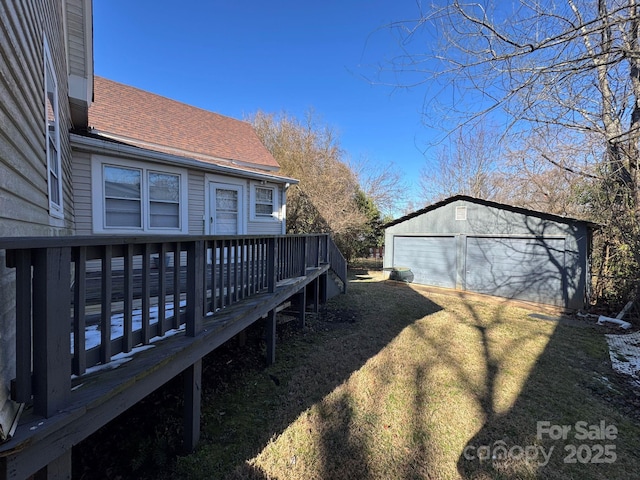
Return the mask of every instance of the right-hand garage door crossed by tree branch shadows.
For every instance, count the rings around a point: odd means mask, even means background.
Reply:
[[[564,239],[467,237],[466,289],[564,305]]]

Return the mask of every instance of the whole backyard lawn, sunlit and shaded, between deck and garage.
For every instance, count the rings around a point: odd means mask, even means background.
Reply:
[[[167,478],[637,477],[638,418],[597,327],[356,273],[278,344],[275,365],[204,378],[201,444]],[[538,421],[572,431],[537,438]],[[577,440],[578,421],[619,435]],[[554,450],[546,466],[465,457],[496,442]],[[612,444],[616,461],[565,463],[582,444]]]

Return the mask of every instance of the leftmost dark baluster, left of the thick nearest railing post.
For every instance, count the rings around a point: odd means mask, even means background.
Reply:
[[[16,267],[16,392],[20,403],[31,399],[31,251],[15,252]]]

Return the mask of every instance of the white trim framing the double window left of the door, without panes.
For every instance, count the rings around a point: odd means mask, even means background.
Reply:
[[[105,225],[105,192],[103,166],[109,165],[119,168],[133,168],[142,171],[142,227],[107,227]],[[178,228],[150,227],[149,207],[149,172],[167,173],[180,176],[180,225]],[[189,205],[188,205],[188,178],[187,170],[155,163],[127,161],[118,158],[93,155],[91,158],[91,211],[93,217],[93,233],[111,234],[187,234],[189,233]]]

